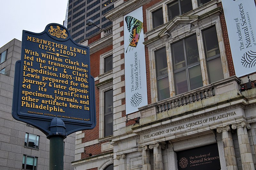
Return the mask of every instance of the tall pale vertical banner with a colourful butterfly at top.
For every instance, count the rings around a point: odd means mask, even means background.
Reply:
[[[126,114],[148,104],[142,7],[124,16]]]

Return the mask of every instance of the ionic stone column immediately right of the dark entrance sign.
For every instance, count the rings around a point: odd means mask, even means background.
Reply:
[[[232,139],[230,127],[222,127],[217,129],[218,133],[222,132],[222,142],[224,148],[224,155],[226,166],[228,170],[237,170],[235,147]]]

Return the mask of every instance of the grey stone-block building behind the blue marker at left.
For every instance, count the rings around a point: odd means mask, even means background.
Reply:
[[[13,39],[0,48],[0,169],[49,169],[49,139],[35,127],[12,117],[15,63],[21,41]],[[72,170],[75,134],[64,139],[64,169]]]

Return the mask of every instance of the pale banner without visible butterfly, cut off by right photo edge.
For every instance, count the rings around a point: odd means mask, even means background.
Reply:
[[[256,71],[256,7],[254,0],[222,0],[237,77]]]

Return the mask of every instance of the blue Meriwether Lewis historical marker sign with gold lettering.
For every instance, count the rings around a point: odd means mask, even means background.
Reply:
[[[75,43],[65,27],[52,23],[42,33],[23,30],[12,116],[47,136],[58,132],[52,127],[65,129],[61,135],[67,136],[96,126],[89,48]]]

